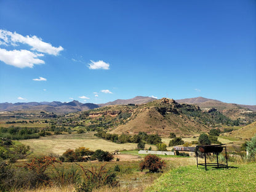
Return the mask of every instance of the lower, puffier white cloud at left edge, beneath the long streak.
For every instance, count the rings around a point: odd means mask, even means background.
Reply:
[[[33,68],[34,65],[44,64],[44,61],[38,57],[44,54],[34,54],[30,50],[6,50],[0,48],[0,60],[7,65],[18,68]]]

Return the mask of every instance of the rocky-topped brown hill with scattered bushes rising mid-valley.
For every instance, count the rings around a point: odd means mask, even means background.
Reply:
[[[189,135],[206,132],[210,127],[233,121],[217,110],[202,111],[198,106],[179,104],[162,98],[141,105],[110,105],[94,110],[67,114],[57,119],[57,126],[80,126],[87,130],[102,128],[116,134]]]

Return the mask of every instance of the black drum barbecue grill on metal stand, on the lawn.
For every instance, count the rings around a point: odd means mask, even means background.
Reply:
[[[226,146],[223,146],[225,144],[220,144],[220,145],[197,145],[196,146],[196,166],[204,166],[206,167],[207,170],[207,166],[209,167],[214,167],[217,166],[217,168],[220,167],[226,167],[228,168],[228,156],[226,155]],[[225,148],[225,158],[226,158],[226,164],[220,164],[218,162],[218,154],[221,153],[223,151],[223,148]],[[201,152],[202,154],[204,154],[204,163],[198,163],[198,153]],[[207,163],[206,162],[206,153],[214,153],[217,155],[217,163]]]

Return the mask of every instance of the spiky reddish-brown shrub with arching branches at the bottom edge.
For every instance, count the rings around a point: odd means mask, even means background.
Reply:
[[[100,188],[101,186],[118,186],[116,181],[116,174],[111,172],[111,170],[106,170],[105,165],[100,166],[99,169],[92,167],[91,169],[85,169],[84,167],[78,165],[82,172],[84,173],[84,182],[81,185],[76,186],[76,191],[78,192],[90,192],[95,188]]]

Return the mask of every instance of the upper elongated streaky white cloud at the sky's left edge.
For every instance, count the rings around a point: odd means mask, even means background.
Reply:
[[[0,30],[0,39],[2,39],[5,44],[10,43],[12,46],[17,46],[16,43],[18,42],[28,44],[32,47],[31,50],[36,50],[50,55],[58,55],[58,53],[63,50],[62,46],[53,47],[49,42],[44,42],[37,36],[22,36],[16,32],[12,33],[6,30]]]

